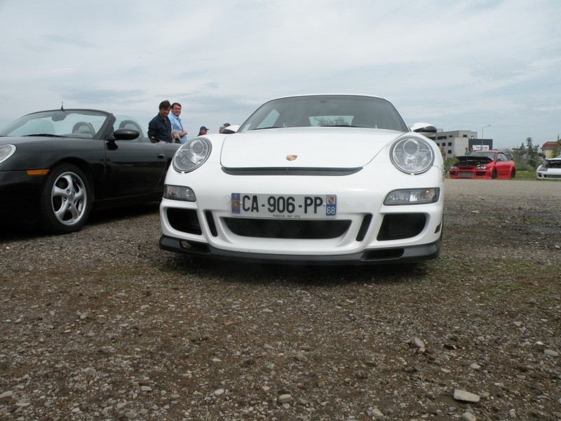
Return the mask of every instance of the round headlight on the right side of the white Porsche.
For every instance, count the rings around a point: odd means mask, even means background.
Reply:
[[[391,145],[390,158],[398,170],[407,174],[424,173],[431,168],[434,152],[430,140],[406,136]]]

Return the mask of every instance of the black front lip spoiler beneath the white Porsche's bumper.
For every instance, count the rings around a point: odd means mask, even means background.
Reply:
[[[363,250],[359,253],[346,255],[271,255],[265,253],[242,253],[238,251],[221,250],[205,243],[189,242],[183,246],[184,240],[162,235],[160,237],[162,250],[183,253],[199,258],[230,260],[237,262],[255,262],[288,265],[382,265],[392,263],[421,262],[438,258],[440,255],[440,239],[434,243],[421,246],[393,247],[373,250]]]

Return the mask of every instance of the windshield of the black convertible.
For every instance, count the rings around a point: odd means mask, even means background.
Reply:
[[[95,138],[111,114],[88,109],[67,109],[27,114],[11,123],[2,136],[50,135]]]

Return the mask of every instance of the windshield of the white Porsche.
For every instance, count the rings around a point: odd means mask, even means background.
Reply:
[[[407,132],[390,102],[359,95],[313,95],[266,102],[240,131],[285,127],[363,127]]]

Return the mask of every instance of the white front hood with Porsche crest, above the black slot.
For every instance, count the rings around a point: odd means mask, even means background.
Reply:
[[[278,128],[227,136],[227,168],[356,168],[403,133],[367,128]]]

